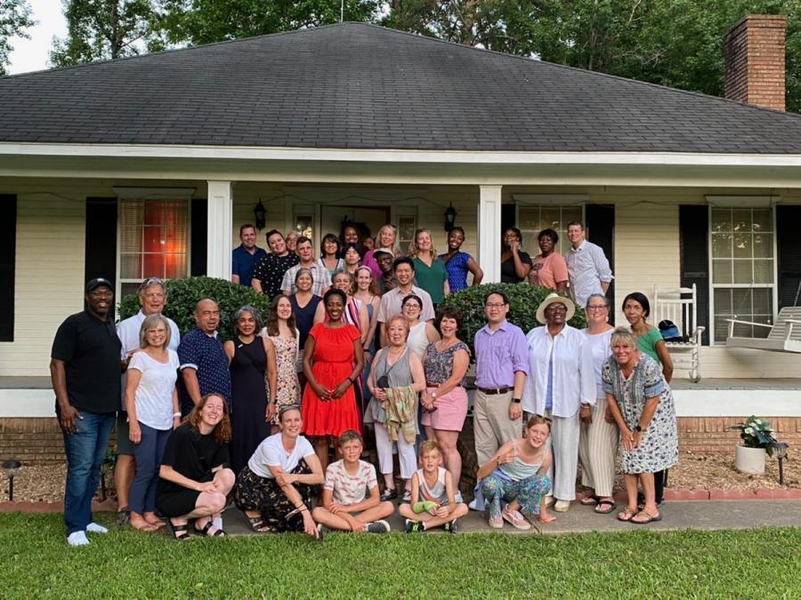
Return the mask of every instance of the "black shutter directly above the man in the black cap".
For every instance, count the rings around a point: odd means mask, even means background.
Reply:
[[[117,285],[117,198],[86,198],[84,281],[95,277]]]

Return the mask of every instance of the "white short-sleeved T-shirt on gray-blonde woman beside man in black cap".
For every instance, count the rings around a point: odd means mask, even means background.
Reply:
[[[167,355],[167,362],[159,363],[146,352],[137,352],[128,364],[129,371],[142,373],[134,392],[136,420],[162,431],[173,427],[173,391],[178,379],[178,354],[167,349]]]

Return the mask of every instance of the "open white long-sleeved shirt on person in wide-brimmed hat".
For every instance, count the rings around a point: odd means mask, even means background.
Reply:
[[[522,407],[525,412],[545,413],[548,389],[548,363],[554,355],[555,417],[572,417],[580,404],[595,404],[595,370],[592,348],[587,337],[565,325],[554,338],[547,326],[535,327],[526,334],[529,349],[530,375],[523,386]]]

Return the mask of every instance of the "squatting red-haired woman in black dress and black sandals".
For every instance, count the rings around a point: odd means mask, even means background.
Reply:
[[[229,460],[231,419],[222,396],[200,398],[182,426],[167,440],[158,471],[156,506],[169,517],[176,540],[189,537],[187,524],[208,536],[225,535],[222,512],[234,474]]]

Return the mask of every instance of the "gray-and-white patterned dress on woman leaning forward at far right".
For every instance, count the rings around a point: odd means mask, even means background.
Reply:
[[[656,473],[678,462],[676,407],[673,393],[667,386],[662,370],[651,356],[641,354],[629,377],[624,377],[618,362],[610,356],[603,364],[603,391],[618,401],[623,420],[634,430],[640,421],[648,398],[659,396],[657,410],[643,431],[639,447],[627,451],[621,444],[624,473]]]

